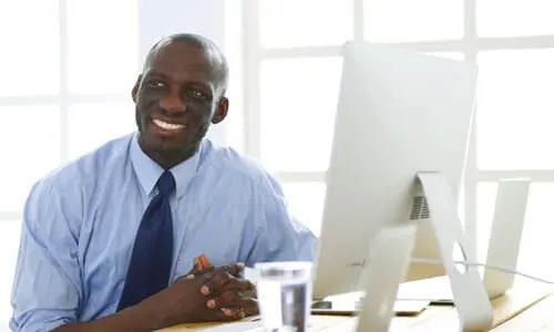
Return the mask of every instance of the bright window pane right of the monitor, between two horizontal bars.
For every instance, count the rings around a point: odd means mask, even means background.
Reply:
[[[554,169],[554,155],[547,153],[554,142],[552,59],[554,43],[479,53],[479,168]]]

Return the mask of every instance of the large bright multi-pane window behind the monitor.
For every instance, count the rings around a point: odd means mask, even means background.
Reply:
[[[369,40],[476,61],[476,126],[461,200],[472,249],[484,258],[497,179],[531,177],[520,266],[554,274],[530,259],[554,231],[553,9],[551,0],[246,1],[246,153],[278,175],[291,210],[318,232],[341,44]]]

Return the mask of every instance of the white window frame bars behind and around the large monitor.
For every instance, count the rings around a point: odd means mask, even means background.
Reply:
[[[353,40],[365,40],[363,0],[353,1]],[[476,0],[463,0],[463,37],[459,40],[388,43],[421,52],[460,52],[466,61],[476,61],[478,53],[490,50],[519,50],[554,48],[554,35],[531,37],[479,37],[476,32]],[[283,49],[261,49],[259,42],[259,4],[257,0],[243,1],[243,43],[244,43],[244,127],[245,153],[261,159],[260,135],[260,64],[264,60],[339,56],[341,46],[304,46]],[[476,122],[476,120],[475,120]],[[466,169],[463,178],[463,219],[470,237],[468,252],[479,252],[478,247],[478,185],[497,181],[505,177],[529,177],[535,183],[554,183],[554,173],[545,169],[478,169],[475,122],[470,136]],[[283,183],[325,183],[325,172],[276,172]]]

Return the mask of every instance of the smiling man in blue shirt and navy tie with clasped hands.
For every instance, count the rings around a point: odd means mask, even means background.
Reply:
[[[277,181],[204,138],[227,115],[227,76],[213,42],[163,39],[132,91],[138,132],[32,188],[13,331],[153,331],[235,320],[257,312],[237,262],[314,259],[315,237],[291,219]],[[191,272],[201,255],[218,268]]]

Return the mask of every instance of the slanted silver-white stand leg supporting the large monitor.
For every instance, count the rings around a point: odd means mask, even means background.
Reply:
[[[417,179],[425,196],[430,222],[452,288],[452,297],[463,331],[486,331],[492,328],[493,314],[489,295],[476,267],[464,266],[460,271],[454,250],[460,249],[468,260],[469,239],[458,217],[458,207],[447,178],[440,172],[420,172]]]

